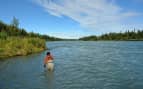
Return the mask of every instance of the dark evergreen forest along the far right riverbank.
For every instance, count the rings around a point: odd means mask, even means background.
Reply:
[[[120,33],[107,33],[103,34],[101,36],[87,36],[79,38],[79,40],[83,41],[98,41],[98,40],[116,40],[116,41],[140,41],[143,40],[143,30],[132,30],[132,31],[126,31],[126,32],[120,32]]]

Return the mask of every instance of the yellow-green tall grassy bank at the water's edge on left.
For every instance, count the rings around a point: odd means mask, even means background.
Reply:
[[[28,55],[46,49],[44,39],[29,37],[9,37],[0,39],[0,59]]]

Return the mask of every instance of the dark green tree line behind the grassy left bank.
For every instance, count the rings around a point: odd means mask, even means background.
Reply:
[[[19,21],[15,17],[13,17],[11,24],[5,24],[0,21],[0,38],[6,39],[7,37],[38,37],[41,39],[45,39],[48,41],[61,40],[60,38],[51,37],[48,35],[41,35],[39,33],[27,32],[23,28],[19,28]]]

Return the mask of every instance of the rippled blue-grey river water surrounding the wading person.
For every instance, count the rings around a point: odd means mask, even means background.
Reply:
[[[46,52],[0,61],[0,89],[143,89],[143,42],[48,42]]]

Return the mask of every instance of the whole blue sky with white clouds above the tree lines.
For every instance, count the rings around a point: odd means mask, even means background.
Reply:
[[[143,29],[143,0],[0,0],[0,20],[61,38]]]

